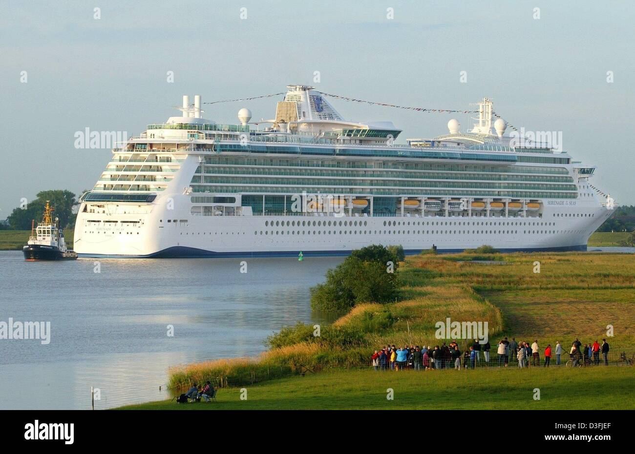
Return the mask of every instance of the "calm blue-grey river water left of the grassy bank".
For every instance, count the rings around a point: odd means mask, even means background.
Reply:
[[[25,262],[0,251],[0,323],[50,322],[49,344],[0,339],[0,409],[88,409],[91,386],[95,409],[170,397],[170,366],[257,356],[283,325],[324,323],[309,287],[342,260],[253,258],[241,272],[242,259]]]

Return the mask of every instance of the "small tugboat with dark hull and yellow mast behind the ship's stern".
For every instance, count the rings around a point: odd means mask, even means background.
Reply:
[[[58,218],[53,222],[53,210],[47,200],[42,222],[35,227],[35,220],[32,221],[29,243],[22,248],[24,260],[76,260],[77,253],[66,248]]]

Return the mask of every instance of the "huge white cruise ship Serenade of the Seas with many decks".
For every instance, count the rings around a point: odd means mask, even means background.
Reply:
[[[548,144],[519,145],[491,99],[474,126],[396,144],[391,122],[344,119],[287,86],[275,117],[203,118],[201,97],[112,150],[80,198],[79,257],[304,257],[369,244],[406,253],[584,251],[613,200]],[[282,96],[282,95],[281,95]],[[498,117],[495,119],[495,117]]]

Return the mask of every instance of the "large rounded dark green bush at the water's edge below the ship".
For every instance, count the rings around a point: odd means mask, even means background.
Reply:
[[[388,272],[387,262],[392,262]],[[314,310],[340,312],[362,302],[385,303],[397,295],[398,260],[384,246],[366,246],[353,251],[335,269],[326,272],[326,281],[311,288]]]

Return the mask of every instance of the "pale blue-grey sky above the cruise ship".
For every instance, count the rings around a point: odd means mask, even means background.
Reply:
[[[77,149],[77,131],[138,135],[178,115],[182,95],[210,102],[279,93],[287,84],[429,109],[470,109],[493,98],[516,128],[561,133],[575,161],[598,166],[592,184],[635,204],[634,151],[624,139],[634,124],[630,1],[98,0],[0,8],[0,219],[40,190],[79,196],[93,187],[110,150]],[[236,124],[248,107],[254,120],[271,118],[277,100],[204,106],[203,116]],[[451,117],[462,130],[472,124],[466,114],[329,101],[346,119],[392,121],[402,143],[446,133]]]

